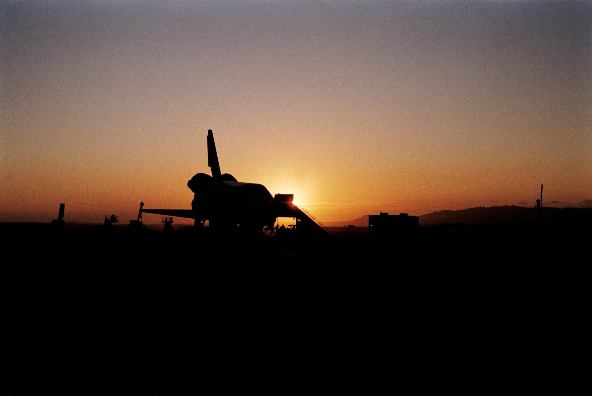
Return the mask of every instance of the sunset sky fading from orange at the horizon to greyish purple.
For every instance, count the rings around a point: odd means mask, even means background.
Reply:
[[[49,221],[60,202],[66,221],[191,208],[208,129],[223,173],[321,221],[531,206],[541,183],[543,205],[592,198],[590,1],[0,0],[0,14],[0,221]]]

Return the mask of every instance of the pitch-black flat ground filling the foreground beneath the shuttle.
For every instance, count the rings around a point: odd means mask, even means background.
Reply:
[[[0,231],[9,395],[570,391],[584,374],[587,229]]]

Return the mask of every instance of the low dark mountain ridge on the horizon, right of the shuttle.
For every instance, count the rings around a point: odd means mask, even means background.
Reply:
[[[442,223],[465,223],[472,226],[496,224],[526,224],[536,220],[535,207],[516,205],[475,207],[462,210],[440,210],[419,217],[420,226],[437,226]],[[543,207],[543,221],[592,221],[592,208]],[[327,227],[343,227],[352,224],[368,227],[368,215],[350,221],[328,221]]]

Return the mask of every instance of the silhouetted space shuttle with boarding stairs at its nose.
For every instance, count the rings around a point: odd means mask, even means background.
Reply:
[[[260,232],[275,224],[278,217],[297,219],[301,235],[328,235],[326,227],[304,209],[293,204],[292,194],[276,194],[272,197],[265,186],[237,181],[229,173],[221,173],[212,130],[208,130],[208,166],[212,175],[197,173],[187,182],[194,192],[191,209],[143,209],[141,212],[195,219],[195,227],[208,220],[210,228],[229,231]]]

